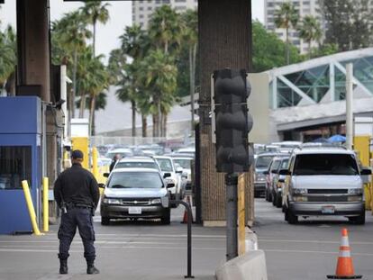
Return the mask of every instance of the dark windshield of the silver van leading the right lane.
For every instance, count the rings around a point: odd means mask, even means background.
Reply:
[[[356,159],[347,154],[297,155],[294,175],[359,175]]]

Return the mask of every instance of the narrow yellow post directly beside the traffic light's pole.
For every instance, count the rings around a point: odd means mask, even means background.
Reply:
[[[245,254],[245,176],[241,174],[238,181],[238,243],[239,256]]]

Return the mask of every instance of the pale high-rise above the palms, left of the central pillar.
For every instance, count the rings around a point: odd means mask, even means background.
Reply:
[[[197,0],[132,1],[132,23],[147,29],[151,14],[161,5],[170,5],[177,13],[182,13],[187,9],[196,9],[197,3]]]

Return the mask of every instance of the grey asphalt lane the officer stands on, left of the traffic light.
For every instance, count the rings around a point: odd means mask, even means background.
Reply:
[[[159,221],[121,221],[101,226],[95,217],[96,266],[100,275],[86,275],[83,246],[77,235],[70,249],[68,275],[59,275],[57,226],[45,236],[0,235],[0,280],[46,279],[184,279],[187,274],[187,225],[183,209],[172,210],[171,225]],[[214,279],[225,259],[225,230],[193,226],[196,279]]]

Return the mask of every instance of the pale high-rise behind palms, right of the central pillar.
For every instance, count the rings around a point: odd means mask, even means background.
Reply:
[[[279,8],[279,5],[288,2],[289,0],[265,0],[264,1],[264,21],[267,30],[275,32],[277,36],[282,40],[286,41],[286,31],[285,29],[278,29],[275,25],[275,11]],[[318,0],[292,0],[291,3],[296,6],[299,11],[300,20],[305,15],[313,15],[316,17],[320,23],[322,23],[322,16],[319,13]],[[323,24],[322,24],[323,25]],[[300,53],[308,52],[308,43],[299,38],[299,32],[296,30],[289,31],[289,41],[295,45]],[[315,46],[315,42],[312,44]]]

